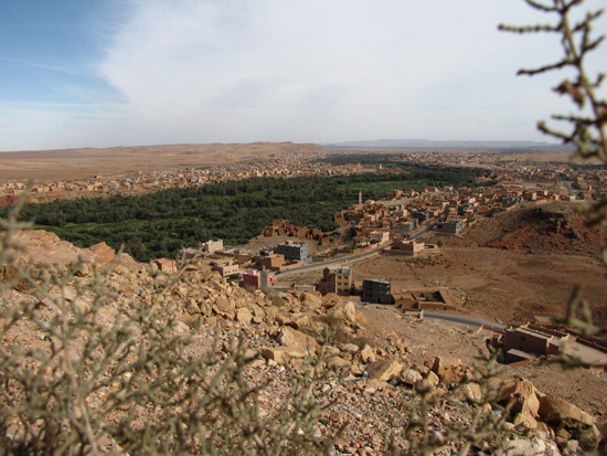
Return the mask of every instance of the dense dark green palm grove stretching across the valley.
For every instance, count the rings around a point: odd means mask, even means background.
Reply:
[[[244,244],[276,219],[332,231],[337,227],[334,212],[358,200],[355,187],[360,183],[461,185],[471,184],[479,173],[460,168],[411,167],[411,172],[398,174],[252,178],[141,195],[117,193],[29,203],[20,218],[79,247],[103,241],[114,248],[124,245],[125,252],[138,261],[149,261],[174,257],[181,247],[210,238],[223,238],[227,245]],[[382,194],[368,190],[363,197],[376,199]],[[0,211],[0,216],[6,216],[8,210]]]

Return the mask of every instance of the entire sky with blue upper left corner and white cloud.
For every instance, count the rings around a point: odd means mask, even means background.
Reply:
[[[523,0],[2,0],[0,151],[554,142],[535,125],[575,112],[551,91],[566,74],[517,71],[558,38],[498,31],[551,21]],[[606,62],[604,44],[588,67]]]

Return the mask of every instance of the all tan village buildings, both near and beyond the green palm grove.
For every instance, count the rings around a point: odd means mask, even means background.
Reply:
[[[117,177],[95,174],[82,180],[35,182],[31,184],[30,199],[46,201],[111,192],[140,193],[252,177],[403,172],[400,168],[381,165],[331,166],[319,161],[327,153],[283,153],[257,163],[245,160],[225,167],[135,172]],[[605,170],[576,169],[569,163],[529,162],[518,159],[517,153],[451,150],[409,151],[391,157],[394,161],[424,165],[482,167],[487,172],[477,179],[479,187],[476,188],[435,187],[422,191],[394,189],[376,201],[363,201],[361,192],[358,204],[334,213],[334,222],[340,226],[338,231],[349,233],[350,241],[345,243],[338,232],[323,233],[318,229],[296,226],[287,220],[276,220],[259,234],[267,238],[288,236],[288,241],[258,251],[225,246],[223,240],[209,241],[201,243],[198,248],[182,250],[177,261],[158,258],[153,264],[170,274],[177,272],[180,262],[190,262],[200,272],[216,272],[226,280],[247,289],[317,291],[322,296],[334,294],[356,303],[395,306],[404,315],[423,318],[424,311],[458,311],[449,287],[402,289],[394,288],[387,278],[354,277],[349,258],[370,255],[398,255],[404,258],[440,255],[440,243],[425,243],[425,234],[438,232],[459,236],[482,218],[521,205],[594,201],[607,193]],[[482,187],[484,182],[491,185]],[[26,182],[19,181],[0,183],[0,199],[3,203],[12,201],[25,187]],[[322,269],[322,278],[317,283],[298,284],[288,278],[289,274],[311,268]],[[504,362],[528,363],[541,354],[560,354],[561,350],[571,351],[572,347],[578,347],[575,350],[598,370],[607,365],[605,342],[588,340],[564,327],[555,327],[543,316],[535,316],[529,325],[515,329],[481,326],[479,333],[484,333],[488,343],[504,350]]]

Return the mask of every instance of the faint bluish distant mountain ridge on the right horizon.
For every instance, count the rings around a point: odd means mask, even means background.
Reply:
[[[537,141],[433,141],[430,139],[375,139],[368,141],[345,141],[319,144],[326,149],[350,147],[412,147],[412,148],[456,148],[456,149],[514,149],[514,148],[567,148],[560,144]]]

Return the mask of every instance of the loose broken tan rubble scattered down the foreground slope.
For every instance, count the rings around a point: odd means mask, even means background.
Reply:
[[[95,251],[106,259],[109,257],[109,251],[103,245]],[[149,305],[153,283],[160,279],[148,266],[134,264],[128,258],[119,262],[120,267],[107,279],[107,287],[116,295],[116,301],[108,305],[107,315],[100,318],[108,325],[113,308],[118,305]],[[454,423],[471,424],[470,415],[452,401],[466,402],[475,410],[486,397],[478,372],[449,354],[439,354],[427,365],[413,364],[407,358],[411,351],[407,341],[390,330],[383,331],[382,340],[361,343],[356,338],[366,335],[364,327],[369,322],[353,303],[341,297],[291,293],[281,295],[284,307],[276,307],[262,291],[246,291],[215,273],[190,272],[185,273],[185,279],[188,285],[168,287],[158,297],[174,306],[182,320],[173,331],[193,337],[191,356],[211,349],[215,338],[222,341],[224,352],[233,348],[234,338],[244,338],[251,350],[247,357],[253,360],[247,381],[269,384],[259,397],[266,407],[264,413],[271,410],[273,401],[289,394],[285,388],[289,371],[301,373],[303,360],[321,352],[315,335],[324,328],[327,317],[333,325],[331,329],[350,335],[347,341],[324,347],[327,380],[313,392],[320,402],[330,404],[323,412],[322,422],[327,424],[319,428],[319,435],[329,438],[339,426],[349,423],[349,432],[336,443],[340,454],[383,454],[391,420],[401,423],[407,420],[406,407],[398,406],[401,401],[411,403],[420,395],[432,399],[432,428],[440,430]],[[10,294],[9,299],[18,298],[17,291]],[[82,301],[82,306],[87,305],[72,288],[66,288],[64,294],[71,300]],[[25,330],[10,332],[7,339],[8,343],[20,343],[24,348],[35,341],[35,336]],[[502,409],[486,410],[487,413],[503,414],[505,427],[518,435],[518,439],[496,454],[560,455],[558,448],[563,454],[572,454],[573,448],[577,452],[578,447],[596,447],[600,438],[597,421],[579,407],[543,394],[525,379],[498,382],[493,388],[499,389]],[[440,434],[434,437],[440,438]],[[455,446],[447,448],[456,449]]]

